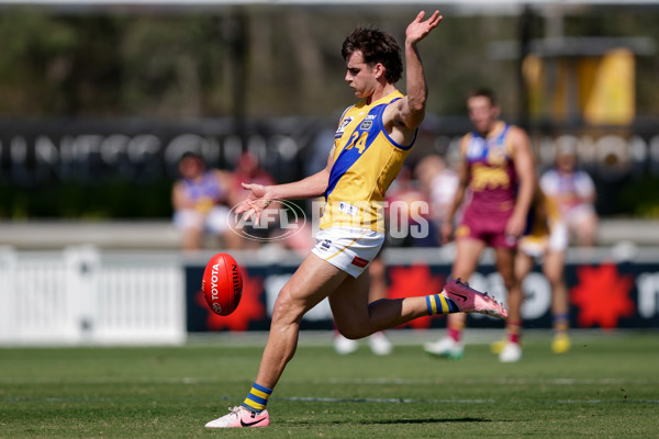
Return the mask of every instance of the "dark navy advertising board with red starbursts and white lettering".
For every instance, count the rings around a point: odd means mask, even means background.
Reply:
[[[280,289],[295,270],[292,264],[242,263],[243,297],[238,308],[221,317],[211,312],[200,282],[203,266],[186,267],[188,331],[267,330],[272,306]],[[449,263],[388,263],[388,297],[426,295],[440,291],[450,272]],[[566,281],[570,294],[570,325],[574,328],[658,328],[659,327],[659,260],[657,262],[570,262]],[[481,264],[470,284],[488,291],[500,301],[507,292],[492,264]],[[551,288],[536,267],[523,284],[526,301],[522,307],[524,327],[551,328]],[[415,329],[446,326],[446,318],[422,317],[405,325]],[[503,327],[502,320],[470,314],[469,327]],[[332,329],[332,313],[327,300],[309,312],[303,329]]]

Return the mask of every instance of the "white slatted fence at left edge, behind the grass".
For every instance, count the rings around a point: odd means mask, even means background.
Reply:
[[[0,344],[183,342],[182,267],[174,255],[0,248]]]

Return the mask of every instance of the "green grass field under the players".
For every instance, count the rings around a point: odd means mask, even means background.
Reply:
[[[396,346],[338,357],[302,344],[271,426],[205,430],[249,390],[261,349],[236,344],[0,349],[1,438],[659,438],[659,334],[583,333],[520,363],[487,345],[460,361]]]

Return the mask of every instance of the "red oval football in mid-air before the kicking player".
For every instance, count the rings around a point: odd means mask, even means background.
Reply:
[[[243,277],[231,255],[217,254],[209,260],[203,271],[201,291],[215,314],[225,316],[236,309],[243,294]]]

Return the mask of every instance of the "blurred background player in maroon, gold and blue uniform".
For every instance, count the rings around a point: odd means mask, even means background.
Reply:
[[[448,241],[458,207],[469,194],[459,226],[455,230],[457,256],[453,278],[469,280],[482,251],[492,247],[496,270],[509,291],[510,317],[506,342],[500,360],[520,360],[522,316],[521,280],[514,270],[517,240],[526,227],[526,215],[534,193],[534,162],[524,130],[499,120],[500,108],[491,90],[479,89],[467,99],[469,119],[474,131],[462,137],[460,183],[443,225],[443,239]],[[448,316],[447,335],[425,345],[425,350],[440,357],[460,358],[465,314]]]

